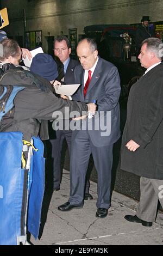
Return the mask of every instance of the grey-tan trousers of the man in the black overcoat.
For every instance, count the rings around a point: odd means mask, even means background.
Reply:
[[[154,222],[158,200],[163,208],[163,180],[140,178],[140,202],[136,215],[143,221]]]

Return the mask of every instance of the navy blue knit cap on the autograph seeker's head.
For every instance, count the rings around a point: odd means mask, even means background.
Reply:
[[[48,81],[53,81],[58,77],[57,63],[51,55],[46,53],[37,53],[33,57],[30,71],[46,78]]]

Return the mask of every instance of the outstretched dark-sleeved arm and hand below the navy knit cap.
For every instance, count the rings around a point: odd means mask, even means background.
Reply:
[[[95,112],[96,105],[93,103],[63,100],[52,92],[41,92],[40,89],[29,87],[22,90],[15,97],[16,119],[36,118],[51,120],[59,115],[59,119],[69,119],[70,114],[75,116],[84,115],[87,111]]]

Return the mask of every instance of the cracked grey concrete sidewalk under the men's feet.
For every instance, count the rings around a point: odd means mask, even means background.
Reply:
[[[105,218],[96,218],[97,184],[91,182],[93,200],[85,201],[83,209],[68,212],[59,211],[58,205],[68,200],[70,192],[69,172],[64,170],[61,190],[44,198],[46,209],[42,210],[45,225],[42,224],[40,240],[31,237],[34,245],[163,245],[163,214],[158,213],[152,227],[131,223],[124,215],[135,215],[137,202],[120,193],[113,192],[111,208]],[[48,202],[50,204],[48,205]],[[44,208],[44,206],[43,206]],[[45,220],[44,220],[45,221]]]

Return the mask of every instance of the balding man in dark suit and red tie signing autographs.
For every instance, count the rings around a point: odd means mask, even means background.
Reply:
[[[120,77],[112,63],[98,56],[94,40],[80,41],[77,54],[82,65],[74,71],[75,81],[83,86],[72,99],[96,102],[98,112],[83,119],[80,130],[72,132],[70,198],[58,210],[83,207],[85,175],[92,153],[98,173],[96,217],[106,217],[110,208],[112,147],[120,137]]]

